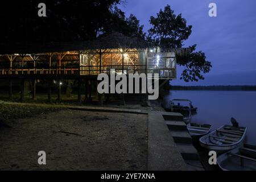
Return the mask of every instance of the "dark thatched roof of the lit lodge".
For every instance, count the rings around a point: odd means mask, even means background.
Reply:
[[[0,44],[0,55],[14,53],[47,53],[65,51],[84,51],[88,49],[114,49],[114,48],[151,48],[154,44],[138,38],[113,33],[101,36],[95,40],[85,42],[62,42],[45,44]],[[172,49],[171,52],[186,52],[187,49]]]

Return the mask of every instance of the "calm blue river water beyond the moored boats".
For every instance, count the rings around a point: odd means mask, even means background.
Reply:
[[[246,141],[256,144],[256,92],[209,91],[209,90],[171,90],[165,101],[183,98],[192,101],[197,114],[192,122],[210,123],[213,129],[231,124],[235,118],[240,126],[246,126]]]

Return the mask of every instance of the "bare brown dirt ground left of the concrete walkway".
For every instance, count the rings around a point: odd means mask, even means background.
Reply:
[[[146,170],[147,115],[54,111],[0,127],[0,143],[0,170]]]

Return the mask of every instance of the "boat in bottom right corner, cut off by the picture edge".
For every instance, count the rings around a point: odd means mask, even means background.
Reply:
[[[224,171],[256,171],[256,146],[243,144],[217,158],[218,166]]]

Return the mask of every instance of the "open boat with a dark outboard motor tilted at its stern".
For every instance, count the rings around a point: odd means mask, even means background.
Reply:
[[[246,127],[224,125],[200,138],[200,145],[218,154],[241,146],[245,139]]]

